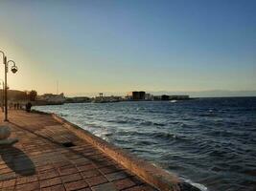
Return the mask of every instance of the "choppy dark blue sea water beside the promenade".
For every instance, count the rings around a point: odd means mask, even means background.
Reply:
[[[40,106],[202,190],[256,190],[256,97]],[[205,187],[203,187],[203,185]]]

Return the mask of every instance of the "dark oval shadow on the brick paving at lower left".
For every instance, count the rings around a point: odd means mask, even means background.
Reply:
[[[9,146],[0,148],[0,157],[13,172],[22,176],[35,174],[34,162],[20,149]]]

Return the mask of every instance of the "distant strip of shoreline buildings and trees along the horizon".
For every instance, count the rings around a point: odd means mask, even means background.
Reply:
[[[25,105],[28,101],[32,105],[61,105],[64,103],[107,103],[120,101],[172,101],[191,99],[187,95],[160,95],[154,96],[144,91],[128,92],[126,96],[105,96],[104,93],[99,93],[98,96],[65,96],[61,94],[43,94],[37,95],[35,90],[32,91],[16,91],[9,90],[9,106],[12,108],[14,104]],[[2,92],[0,97],[4,97]],[[3,99],[2,99],[3,100]]]

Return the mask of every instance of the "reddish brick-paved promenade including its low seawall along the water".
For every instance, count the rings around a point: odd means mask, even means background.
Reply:
[[[11,111],[9,119],[1,125],[19,141],[0,148],[0,190],[194,190],[61,117]]]

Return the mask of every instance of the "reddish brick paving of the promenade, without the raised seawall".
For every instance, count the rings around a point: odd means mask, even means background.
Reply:
[[[19,142],[0,147],[1,191],[155,190],[51,116],[11,111],[3,124]]]

